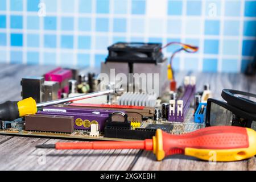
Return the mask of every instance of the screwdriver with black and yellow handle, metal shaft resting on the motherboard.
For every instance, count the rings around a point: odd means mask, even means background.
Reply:
[[[122,89],[117,90],[117,92],[122,91]],[[82,100],[85,98],[91,98],[96,96],[102,96],[104,94],[114,93],[113,89],[103,90],[98,92],[92,92],[88,94],[82,94],[80,96],[61,98],[58,100],[41,102],[36,104],[36,101],[32,98],[25,98],[22,101],[6,101],[3,104],[0,104],[0,120],[3,121],[14,121],[19,117],[23,117],[27,114],[35,114],[38,111],[38,108],[45,106],[52,106],[56,104],[62,104],[65,102],[73,102]]]

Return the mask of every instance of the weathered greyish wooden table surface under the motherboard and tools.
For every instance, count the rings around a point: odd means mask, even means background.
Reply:
[[[24,76],[41,76],[52,66],[0,64],[0,102],[20,100],[20,80]],[[209,83],[214,98],[223,88],[256,93],[256,77],[235,73],[176,74],[178,85],[185,75],[195,75],[198,90]],[[0,170],[255,170],[255,157],[241,162],[210,164],[186,156],[171,156],[156,162],[152,152],[140,150],[55,151],[36,149],[43,143],[67,140],[12,137],[0,135]]]

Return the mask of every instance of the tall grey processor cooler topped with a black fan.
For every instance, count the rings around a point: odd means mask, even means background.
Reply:
[[[167,80],[167,59],[163,59],[162,44],[160,43],[116,43],[110,46],[109,55],[105,63],[101,63],[101,73],[106,73],[110,77],[110,71],[114,69],[115,74],[122,73],[127,76],[127,85],[134,85],[134,88],[142,88],[140,79],[130,79],[129,73],[142,73],[152,76],[158,74],[161,80],[158,85],[158,93],[155,90],[142,90],[144,93],[156,94],[156,97],[166,92],[168,87]],[[147,77],[148,82],[154,82],[154,79]],[[119,82],[116,77],[110,77],[109,82]],[[142,88],[143,89],[143,88]],[[134,90],[127,90],[134,92]]]

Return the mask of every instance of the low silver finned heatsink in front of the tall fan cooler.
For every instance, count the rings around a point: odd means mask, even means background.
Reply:
[[[130,105],[130,106],[150,106],[156,105],[156,96],[145,93],[123,93],[118,98],[119,105]]]

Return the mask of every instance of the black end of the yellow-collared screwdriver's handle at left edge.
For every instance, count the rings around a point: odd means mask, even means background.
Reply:
[[[19,118],[18,101],[6,101],[0,104],[0,120],[13,121]]]

